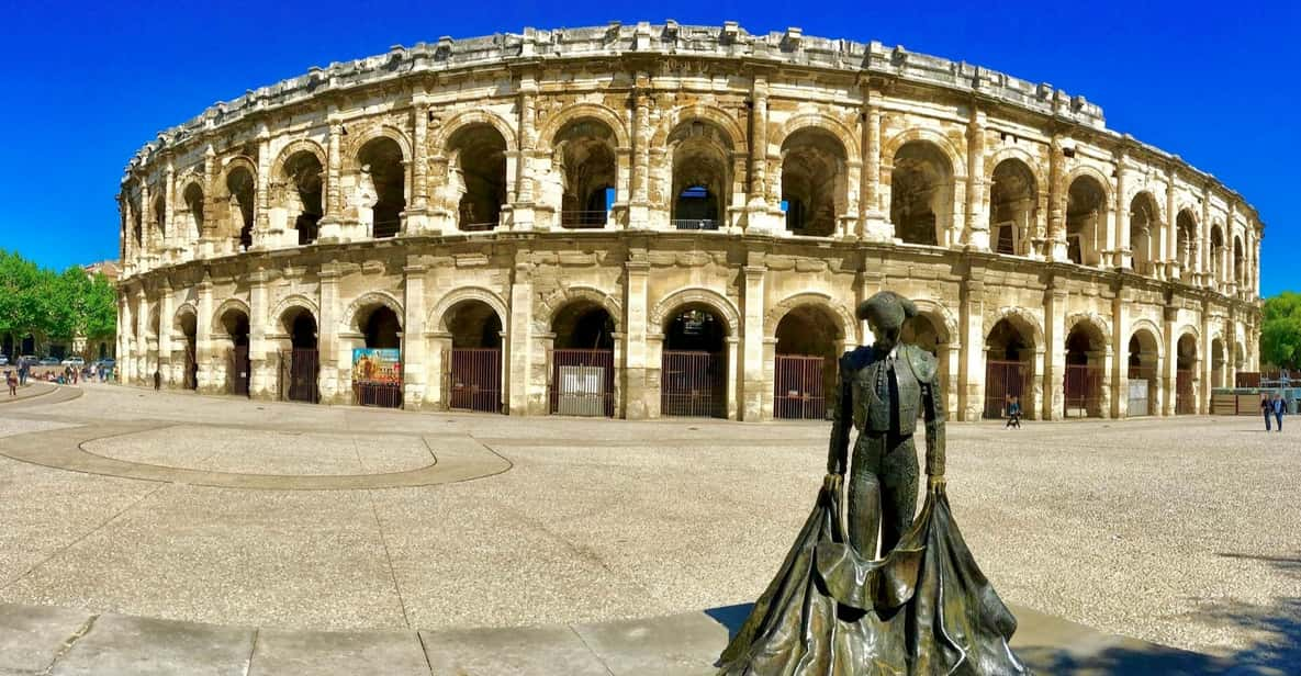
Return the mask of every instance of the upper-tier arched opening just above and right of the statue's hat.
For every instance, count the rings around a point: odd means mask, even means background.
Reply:
[[[954,218],[954,168],[938,146],[909,140],[890,170],[890,221],[908,244],[935,246]]]

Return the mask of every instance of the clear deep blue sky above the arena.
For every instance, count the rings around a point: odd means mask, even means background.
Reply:
[[[1297,0],[0,4],[0,247],[47,266],[114,257],[126,160],[213,101],[440,35],[674,18],[903,44],[1082,94],[1241,192],[1267,224],[1265,294],[1301,290]]]

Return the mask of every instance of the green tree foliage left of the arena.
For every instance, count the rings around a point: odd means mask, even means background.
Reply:
[[[17,252],[0,250],[0,335],[43,335],[72,341],[117,332],[117,290],[74,265],[64,272],[39,268]]]

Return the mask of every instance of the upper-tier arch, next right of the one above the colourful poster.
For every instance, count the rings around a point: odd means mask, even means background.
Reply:
[[[457,198],[457,226],[492,230],[506,203],[506,139],[497,127],[474,124],[448,139],[448,166]]]

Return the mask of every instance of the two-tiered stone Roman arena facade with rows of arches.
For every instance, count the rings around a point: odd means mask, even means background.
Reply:
[[[1241,195],[1081,96],[799,29],[393,47],[159,134],[118,203],[121,372],[165,387],[821,417],[881,289],[958,420],[1206,412],[1258,361]]]

